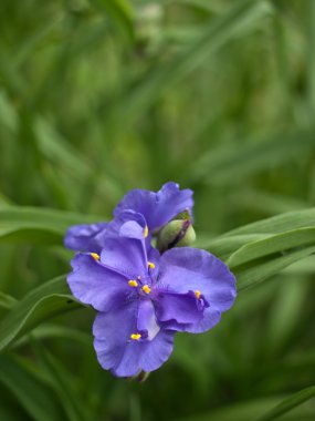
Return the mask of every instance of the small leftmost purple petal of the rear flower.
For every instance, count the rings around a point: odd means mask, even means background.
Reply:
[[[67,229],[64,237],[64,245],[74,251],[99,253],[102,244],[99,244],[97,236],[107,225],[107,223],[74,225]]]

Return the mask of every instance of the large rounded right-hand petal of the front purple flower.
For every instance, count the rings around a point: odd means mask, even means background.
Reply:
[[[156,288],[178,294],[198,291],[206,298],[209,307],[204,318],[187,330],[196,332],[213,327],[237,296],[235,277],[228,266],[210,253],[190,247],[172,248],[161,256]]]

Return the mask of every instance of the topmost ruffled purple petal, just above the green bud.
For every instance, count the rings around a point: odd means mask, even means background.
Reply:
[[[157,193],[144,189],[134,189],[125,195],[114,210],[115,217],[125,209],[133,209],[143,214],[149,230],[156,230],[171,220],[182,210],[191,210],[193,206],[192,191],[179,189],[172,182],[166,183]]]

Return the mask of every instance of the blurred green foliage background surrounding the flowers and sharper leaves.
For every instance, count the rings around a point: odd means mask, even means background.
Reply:
[[[128,189],[176,181],[206,244],[315,206],[314,123],[313,0],[0,2],[1,208],[106,220]],[[70,258],[3,243],[0,289],[21,298]],[[315,384],[313,297],[308,259],[178,335],[143,384],[99,368],[92,310],[59,317],[1,357],[0,419],[254,420]],[[312,401],[295,411],[315,419]]]

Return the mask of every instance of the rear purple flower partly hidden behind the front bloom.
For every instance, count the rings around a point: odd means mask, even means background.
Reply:
[[[134,220],[146,228],[148,234],[154,234],[179,213],[187,210],[191,214],[192,194],[189,188],[180,191],[179,185],[172,182],[166,183],[157,193],[133,189],[117,205],[112,223],[74,225],[67,230],[64,244],[75,251],[101,253],[104,238],[117,235],[128,219],[130,229]],[[128,236],[132,236],[130,230]]]

